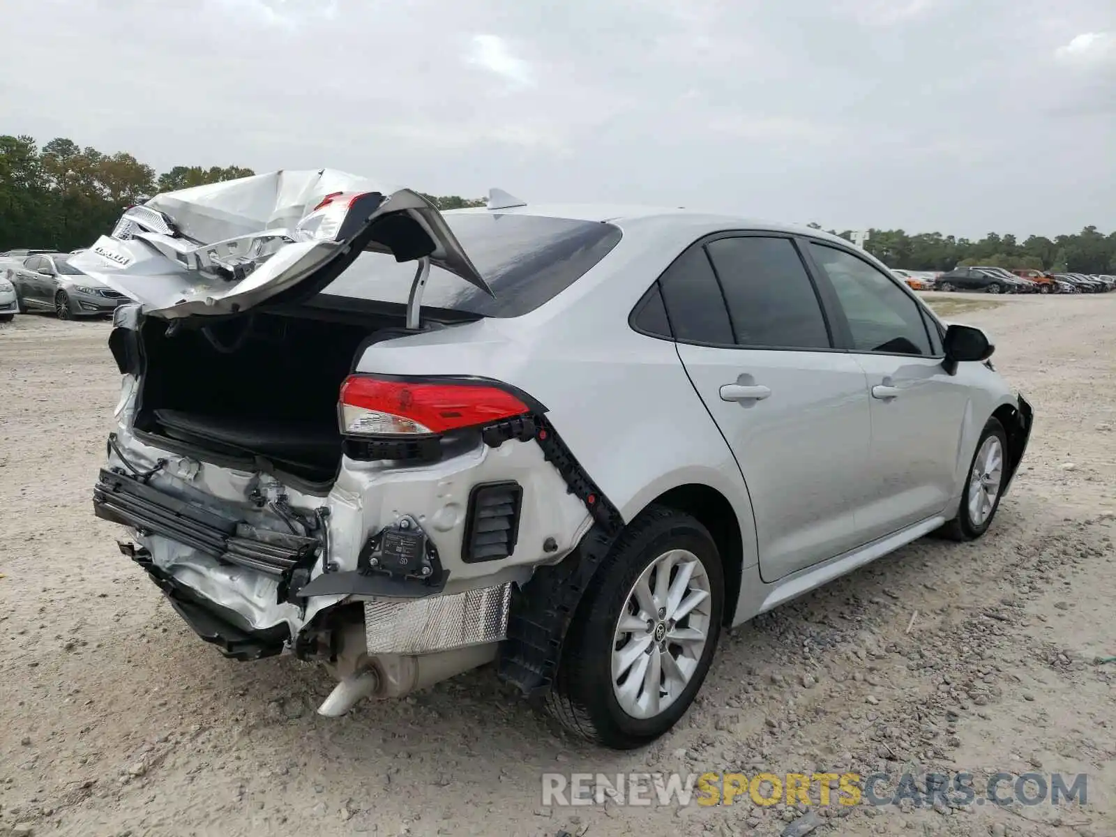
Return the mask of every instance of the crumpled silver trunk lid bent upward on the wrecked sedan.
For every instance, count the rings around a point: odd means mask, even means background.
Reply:
[[[167,319],[312,294],[362,251],[430,259],[491,294],[437,209],[336,170],[278,171],[155,195],[70,263]]]

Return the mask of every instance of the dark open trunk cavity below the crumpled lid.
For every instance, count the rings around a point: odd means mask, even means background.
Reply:
[[[177,327],[146,318],[136,430],[221,464],[330,483],[341,382],[359,346],[398,319],[321,317],[257,310]]]

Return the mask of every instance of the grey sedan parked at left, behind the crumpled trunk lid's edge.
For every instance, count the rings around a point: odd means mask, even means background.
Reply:
[[[11,271],[21,311],[54,311],[58,319],[110,315],[128,297],[75,268],[69,253],[40,253]]]

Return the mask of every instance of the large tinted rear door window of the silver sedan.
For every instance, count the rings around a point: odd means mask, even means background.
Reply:
[[[724,289],[738,346],[830,347],[814,282],[790,239],[741,235],[705,247]]]

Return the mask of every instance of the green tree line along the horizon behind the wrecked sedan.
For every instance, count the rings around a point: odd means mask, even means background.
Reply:
[[[218,183],[254,174],[238,165],[176,165],[156,174],[132,154],[105,154],[59,137],[39,147],[30,136],[0,135],[0,250],[86,247],[113,228],[121,212],[157,192]],[[440,209],[483,206],[484,199],[424,195]],[[810,227],[821,229],[820,224]],[[835,232],[830,230],[830,232]],[[837,233],[852,240],[853,232]],[[1055,272],[1116,273],[1116,232],[1096,227],[1078,233],[1014,235],[990,232],[972,241],[940,232],[907,234],[869,230],[865,249],[893,268],[951,270],[959,264],[997,264]]]

